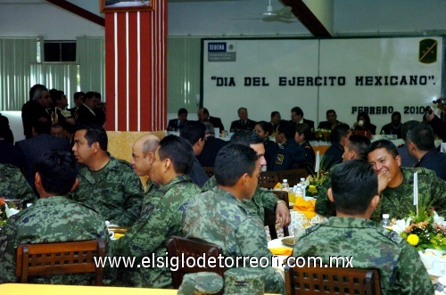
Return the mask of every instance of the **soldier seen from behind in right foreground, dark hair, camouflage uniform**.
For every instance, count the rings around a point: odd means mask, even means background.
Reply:
[[[335,201],[338,217],[302,232],[293,257],[320,257],[326,265],[330,257],[351,258],[351,264],[344,259],[344,266],[378,270],[383,295],[434,294],[415,247],[368,220],[379,195],[376,173],[367,162],[349,160],[338,165],[328,196]]]

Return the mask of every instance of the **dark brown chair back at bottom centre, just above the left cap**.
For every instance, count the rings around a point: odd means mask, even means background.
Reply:
[[[182,258],[184,261],[184,263],[181,263],[181,260],[179,260],[178,270],[171,271],[172,284],[175,289],[179,288],[179,285],[183,281],[183,276],[186,274],[211,272],[224,277],[223,274],[226,271],[225,268],[211,267],[208,264],[208,258],[215,257],[215,261],[219,261],[219,255],[223,254],[223,250],[221,250],[221,247],[219,247],[218,245],[206,242],[198,242],[173,235],[166,243],[166,246],[169,258],[177,257]],[[202,266],[202,264],[200,264],[200,266],[198,266],[197,264],[195,264],[194,266],[188,266],[186,264],[186,258],[193,257],[196,261],[196,258],[202,257],[203,254],[206,255],[203,261],[204,267],[200,267]]]

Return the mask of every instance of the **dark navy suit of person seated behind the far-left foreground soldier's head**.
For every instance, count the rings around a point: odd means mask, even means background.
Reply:
[[[48,134],[40,134],[29,139],[15,143],[15,146],[25,154],[27,179],[29,185],[34,187],[34,176],[32,168],[34,162],[39,160],[44,152],[49,150],[61,150],[70,152],[70,144],[66,138],[55,137]]]

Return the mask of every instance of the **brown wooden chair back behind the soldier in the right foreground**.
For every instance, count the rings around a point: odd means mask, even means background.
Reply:
[[[285,294],[381,295],[376,269],[285,266]]]

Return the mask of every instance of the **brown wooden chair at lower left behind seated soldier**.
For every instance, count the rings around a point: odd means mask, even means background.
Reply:
[[[21,283],[29,276],[95,273],[95,285],[103,285],[103,267],[95,266],[95,257],[105,256],[101,239],[84,242],[21,244],[17,248],[15,275]]]

